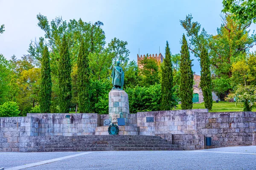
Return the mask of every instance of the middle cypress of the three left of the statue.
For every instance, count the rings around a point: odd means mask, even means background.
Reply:
[[[71,63],[65,34],[61,43],[58,65],[59,104],[61,113],[69,113],[71,104]]]

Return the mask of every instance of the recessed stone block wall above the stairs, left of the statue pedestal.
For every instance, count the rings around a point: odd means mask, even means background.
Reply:
[[[100,125],[97,113],[28,113],[27,116],[39,119],[38,136],[94,135]]]

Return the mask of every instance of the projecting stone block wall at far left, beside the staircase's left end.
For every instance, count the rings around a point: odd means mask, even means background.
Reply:
[[[21,136],[38,136],[39,119],[0,117],[0,152],[19,151]]]

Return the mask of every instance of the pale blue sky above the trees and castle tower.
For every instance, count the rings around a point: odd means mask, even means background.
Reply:
[[[106,42],[116,37],[127,41],[130,60],[137,54],[164,55],[166,40],[172,54],[180,53],[180,39],[185,33],[180,20],[192,14],[208,34],[216,34],[221,26],[222,0],[0,0],[0,54],[10,59],[27,54],[30,40],[44,37],[36,15],[41,13],[50,22],[58,16],[63,20],[81,18],[84,22],[102,21]],[[250,29],[255,29],[251,26]],[[191,55],[192,59],[195,59]],[[193,71],[200,74],[197,59]]]

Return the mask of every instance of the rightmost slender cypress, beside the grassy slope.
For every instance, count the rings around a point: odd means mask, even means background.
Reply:
[[[210,72],[210,60],[208,52],[203,47],[200,54],[200,66],[201,66],[201,80],[200,87],[203,91],[204,96],[204,107],[212,110],[212,80]]]

